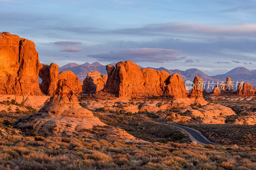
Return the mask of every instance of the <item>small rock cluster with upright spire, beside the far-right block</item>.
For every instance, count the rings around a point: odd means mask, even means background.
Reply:
[[[234,92],[234,85],[232,84],[230,77],[227,77],[226,83],[217,84],[212,90],[213,95],[220,95],[224,93],[233,93],[233,92]]]

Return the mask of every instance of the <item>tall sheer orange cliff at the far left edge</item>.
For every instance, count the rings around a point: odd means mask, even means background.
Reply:
[[[41,95],[40,63],[33,41],[0,32],[0,94]]]

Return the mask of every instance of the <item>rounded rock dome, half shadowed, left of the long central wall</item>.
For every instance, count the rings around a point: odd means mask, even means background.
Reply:
[[[102,89],[107,82],[108,75],[100,74],[98,71],[88,73],[83,81],[82,91],[83,93],[96,93]]]

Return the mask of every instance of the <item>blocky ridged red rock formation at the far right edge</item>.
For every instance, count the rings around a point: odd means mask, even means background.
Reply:
[[[249,83],[240,82],[236,94],[239,96],[255,96],[256,90]]]

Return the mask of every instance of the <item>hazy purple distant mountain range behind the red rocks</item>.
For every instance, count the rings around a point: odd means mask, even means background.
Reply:
[[[108,65],[113,65],[116,66],[116,63],[111,63]],[[140,68],[145,68],[142,66],[139,66]],[[153,67],[147,67],[147,68],[153,68]],[[230,70],[229,72],[225,73],[225,74],[218,74],[218,75],[214,75],[214,76],[208,76],[207,74],[205,74],[204,72],[196,69],[196,68],[190,68],[187,69],[185,71],[182,70],[169,70],[167,68],[164,67],[160,67],[160,68],[153,68],[156,70],[165,70],[167,71],[169,74],[173,74],[173,73],[179,73],[180,76],[183,78],[184,81],[186,80],[190,80],[193,81],[194,77],[198,76],[200,78],[203,79],[203,81],[226,81],[227,77],[230,77],[232,81],[244,81],[244,82],[249,82],[250,84],[252,84],[254,87],[256,86],[256,70],[248,70],[245,67],[236,67],[233,70]],[[66,64],[65,66],[62,66],[59,68],[59,72],[61,71],[72,71],[76,74],[76,76],[79,77],[80,81],[83,81],[86,76],[87,73],[92,72],[92,71],[98,71],[101,74],[107,74],[106,71],[106,66],[102,65],[98,62],[94,62],[92,64],[90,63],[84,63],[82,65],[76,64],[76,63],[69,63]]]

